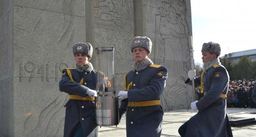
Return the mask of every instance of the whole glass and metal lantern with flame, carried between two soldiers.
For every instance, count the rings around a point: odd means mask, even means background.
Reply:
[[[100,126],[119,124],[118,98],[115,95],[114,48],[96,48],[97,95],[96,123]]]

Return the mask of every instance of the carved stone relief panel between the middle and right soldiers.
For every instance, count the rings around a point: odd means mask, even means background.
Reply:
[[[189,27],[186,20],[186,1],[161,0],[156,5],[146,3],[146,29],[148,34],[154,32],[154,63],[165,65],[168,69],[167,87],[164,91],[164,110],[187,108],[192,100],[192,88],[184,82],[190,65],[188,36]],[[147,32],[146,32],[147,33]],[[151,57],[152,58],[152,57]],[[189,90],[189,92],[188,92]],[[189,103],[190,104],[190,103]]]

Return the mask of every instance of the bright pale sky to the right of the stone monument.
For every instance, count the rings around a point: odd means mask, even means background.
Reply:
[[[220,56],[256,49],[256,0],[191,0],[195,63],[204,42],[219,43]]]

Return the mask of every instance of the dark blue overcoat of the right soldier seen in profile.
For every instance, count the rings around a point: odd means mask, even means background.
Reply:
[[[203,75],[205,95],[196,106],[197,114],[188,121],[185,137],[233,137],[226,115],[226,100],[229,75],[224,66],[209,68]],[[190,83],[189,79],[185,83]],[[195,87],[200,86],[201,76],[194,79]]]

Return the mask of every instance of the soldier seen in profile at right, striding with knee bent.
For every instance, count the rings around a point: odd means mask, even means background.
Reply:
[[[232,131],[226,115],[226,94],[229,75],[219,62],[218,43],[204,43],[202,46],[203,72],[195,77],[194,71],[188,72],[185,83],[201,86],[205,92],[203,98],[191,103],[191,109],[198,113],[186,121],[180,128],[181,137],[232,137]]]

